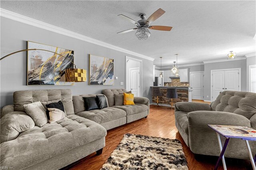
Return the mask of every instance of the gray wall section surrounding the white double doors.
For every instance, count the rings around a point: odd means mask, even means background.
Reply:
[[[241,68],[241,90],[246,91],[246,59],[204,64],[204,100],[211,100],[211,70]],[[209,97],[207,97],[207,95]]]

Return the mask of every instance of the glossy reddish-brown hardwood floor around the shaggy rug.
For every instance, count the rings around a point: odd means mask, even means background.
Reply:
[[[75,162],[65,169],[72,170],[99,170],[104,162],[108,159],[110,154],[122,140],[125,133],[142,134],[148,136],[156,136],[162,138],[178,139],[183,145],[183,150],[188,161],[188,168],[190,170],[212,170],[217,162],[216,156],[195,155],[186,146],[182,137],[175,127],[174,110],[167,109],[167,107],[150,106],[150,115],[146,119],[108,130],[106,136],[106,146],[103,148],[101,155],[96,155],[96,152],[86,156],[85,158]],[[251,170],[249,160],[239,160],[226,158],[226,165],[228,170]],[[223,170],[222,164],[219,170]]]

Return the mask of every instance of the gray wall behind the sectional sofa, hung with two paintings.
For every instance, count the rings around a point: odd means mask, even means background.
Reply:
[[[78,68],[87,70],[87,82],[75,83],[74,86],[27,86],[26,52],[17,53],[0,63],[0,106],[13,103],[13,92],[34,89],[71,89],[73,95],[101,93],[102,89],[125,88],[125,56],[142,59],[120,51],[84,42],[75,38],[50,32],[1,17],[1,56],[26,49],[26,41],[44,43],[74,50],[74,63]],[[121,41],[121,40],[120,40]],[[89,54],[110,57],[114,59],[114,76],[118,80],[113,86],[89,85]],[[143,87],[142,95],[151,99],[150,86],[153,85],[153,61],[142,59]],[[120,85],[123,81],[124,85]],[[151,99],[152,100],[152,99]]]

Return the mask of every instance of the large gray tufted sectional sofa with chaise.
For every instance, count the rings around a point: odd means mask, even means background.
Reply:
[[[124,89],[110,91],[126,92]],[[120,106],[121,109],[110,105],[112,98],[107,96],[110,107],[85,111],[82,97],[90,96],[95,95],[72,96],[69,89],[14,92],[14,105],[3,107],[1,112],[1,166],[19,170],[60,169],[93,152],[100,154],[105,146],[106,130],[149,113],[149,100],[144,97],[134,99],[136,106]],[[37,127],[24,113],[24,104],[60,100],[66,117],[55,123]]]

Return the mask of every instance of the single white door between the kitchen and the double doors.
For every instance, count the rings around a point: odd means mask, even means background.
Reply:
[[[192,91],[192,99],[204,99],[204,73],[190,73],[190,89]]]

